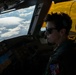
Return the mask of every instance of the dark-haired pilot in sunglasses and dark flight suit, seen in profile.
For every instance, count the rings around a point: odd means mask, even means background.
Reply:
[[[51,13],[45,17],[47,41],[55,44],[44,75],[76,75],[74,40],[68,38],[72,19],[66,13]]]

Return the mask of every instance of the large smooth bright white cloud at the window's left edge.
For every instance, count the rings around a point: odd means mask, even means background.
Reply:
[[[23,19],[19,17],[5,17],[0,18],[0,25],[1,26],[7,26],[7,25],[17,25],[19,24]]]

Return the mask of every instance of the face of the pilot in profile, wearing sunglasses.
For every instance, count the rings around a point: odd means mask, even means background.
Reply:
[[[47,22],[46,36],[49,43],[57,43],[60,39],[60,33],[57,31],[54,23]]]

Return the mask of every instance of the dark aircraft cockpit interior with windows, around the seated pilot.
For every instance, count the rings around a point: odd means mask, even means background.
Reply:
[[[72,19],[69,38],[76,40],[76,1],[0,0],[0,75],[42,75],[55,45],[45,36],[45,16],[66,12]]]

